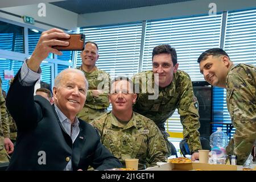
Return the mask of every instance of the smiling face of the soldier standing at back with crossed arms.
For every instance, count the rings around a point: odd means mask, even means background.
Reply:
[[[82,64],[86,67],[94,67],[98,60],[98,49],[95,44],[87,43],[81,52]]]

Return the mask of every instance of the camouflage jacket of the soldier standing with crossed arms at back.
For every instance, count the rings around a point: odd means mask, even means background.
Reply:
[[[92,121],[92,119],[97,118],[100,115],[106,113],[109,107],[108,94],[110,75],[109,73],[106,73],[105,71],[102,71],[97,67],[96,70],[92,73],[85,72],[82,69],[82,65],[77,69],[80,69],[82,72],[84,72],[89,84],[84,108],[77,116],[83,119],[84,121]],[[92,90],[97,90],[98,87],[101,88],[104,91],[104,93],[100,94],[98,97],[94,97],[92,94]]]

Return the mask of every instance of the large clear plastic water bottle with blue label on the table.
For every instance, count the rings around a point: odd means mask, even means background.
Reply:
[[[217,131],[210,135],[210,164],[225,164],[226,146],[228,146],[229,138],[222,131],[221,127],[217,127]]]

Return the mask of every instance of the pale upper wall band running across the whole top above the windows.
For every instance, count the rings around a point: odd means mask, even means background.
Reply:
[[[19,16],[31,16],[35,20],[50,24],[50,26],[48,26],[41,23],[35,23],[35,27],[49,29],[57,26],[67,30],[76,31],[77,27],[101,26],[105,24],[117,24],[150,19],[208,14],[210,9],[208,6],[209,3],[212,2],[216,3],[218,12],[256,7],[255,0],[195,0],[171,3],[167,5],[148,6],[117,11],[105,11],[100,13],[89,13],[81,15],[46,3],[46,17],[38,16],[38,4],[6,7],[1,8],[0,10],[7,11]],[[24,23],[22,18],[2,12],[0,12],[0,18]]]

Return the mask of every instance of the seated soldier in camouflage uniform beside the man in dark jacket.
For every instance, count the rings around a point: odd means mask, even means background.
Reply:
[[[110,102],[113,110],[94,119],[92,125],[101,135],[102,143],[118,158],[139,159],[138,169],[152,167],[167,159],[166,142],[151,119],[133,112],[137,95],[131,92],[131,80],[118,77],[112,82]]]

